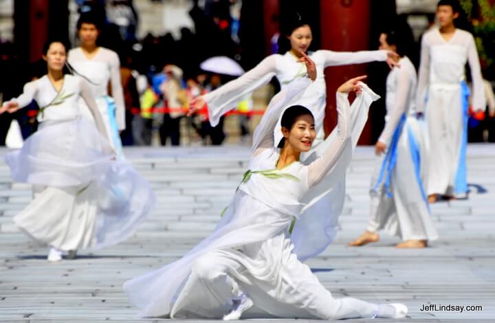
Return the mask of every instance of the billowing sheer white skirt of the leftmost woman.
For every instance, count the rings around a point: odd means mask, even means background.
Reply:
[[[19,228],[63,250],[129,238],[155,197],[130,164],[104,151],[111,151],[107,140],[79,118],[43,122],[21,150],[6,155],[14,181],[47,186],[14,217]]]

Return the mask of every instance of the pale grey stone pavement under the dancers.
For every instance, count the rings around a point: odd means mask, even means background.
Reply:
[[[125,243],[48,263],[47,247],[34,245],[12,223],[31,192],[30,186],[10,180],[6,152],[0,150],[2,322],[159,321],[138,320],[122,283],[176,260],[207,236],[249,157],[249,149],[240,146],[126,149],[157,194],[151,216]],[[375,245],[350,248],[347,242],[366,225],[373,169],[371,148],[358,147],[349,169],[342,231],[308,264],[336,297],[404,302],[407,322],[495,322],[495,145],[470,145],[467,165],[470,199],[432,205],[440,238],[430,247],[395,249],[397,238],[384,233]],[[421,311],[428,304],[481,305],[483,310]]]

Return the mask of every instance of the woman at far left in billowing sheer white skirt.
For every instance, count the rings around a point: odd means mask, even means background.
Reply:
[[[148,182],[130,164],[115,161],[107,131],[85,80],[64,75],[65,45],[45,45],[48,74],[5,102],[10,113],[36,100],[40,125],[18,151],[5,156],[14,181],[32,183],[34,200],[14,222],[51,246],[48,260],[77,249],[100,248],[129,238],[153,207]],[[83,98],[93,122],[80,117]]]

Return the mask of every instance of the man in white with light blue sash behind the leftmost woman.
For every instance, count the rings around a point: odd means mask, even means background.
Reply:
[[[99,34],[98,21],[92,14],[81,14],[78,21],[80,47],[69,51],[69,66],[74,74],[83,76],[88,83],[103,118],[110,143],[122,158],[122,141],[120,131],[125,129],[124,91],[120,82],[120,60],[117,53],[96,44]],[[111,85],[111,96],[108,85]],[[87,120],[93,120],[84,100],[80,100],[81,114]]]

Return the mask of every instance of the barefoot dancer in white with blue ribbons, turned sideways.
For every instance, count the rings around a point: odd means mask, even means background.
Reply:
[[[380,49],[403,55],[404,35],[380,35]],[[371,208],[366,231],[351,246],[380,240],[386,230],[399,236],[399,248],[421,248],[438,237],[423,186],[427,176],[428,147],[423,121],[415,112],[416,69],[407,56],[386,79],[386,124],[377,141],[375,172],[371,179]]]

